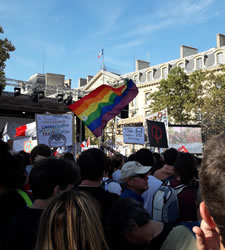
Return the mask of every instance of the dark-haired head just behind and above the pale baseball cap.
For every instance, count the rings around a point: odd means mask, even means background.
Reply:
[[[139,162],[143,166],[151,166],[155,165],[154,156],[152,152],[147,148],[141,148],[134,154],[134,161]]]

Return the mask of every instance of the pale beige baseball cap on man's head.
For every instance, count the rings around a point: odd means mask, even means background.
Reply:
[[[136,161],[128,161],[121,168],[121,180],[136,174],[147,174],[151,168],[151,166],[143,166]]]

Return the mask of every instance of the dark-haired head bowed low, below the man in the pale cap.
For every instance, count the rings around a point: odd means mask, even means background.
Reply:
[[[144,245],[152,240],[151,217],[143,206],[131,198],[120,198],[109,215],[113,240]]]

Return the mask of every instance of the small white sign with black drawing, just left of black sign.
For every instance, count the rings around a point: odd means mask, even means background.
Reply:
[[[123,142],[126,144],[144,144],[144,127],[123,127]]]

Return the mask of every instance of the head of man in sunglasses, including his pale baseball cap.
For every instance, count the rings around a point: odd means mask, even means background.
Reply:
[[[121,168],[121,181],[125,187],[142,194],[148,189],[148,172],[151,167],[142,166],[139,162],[128,161]]]

